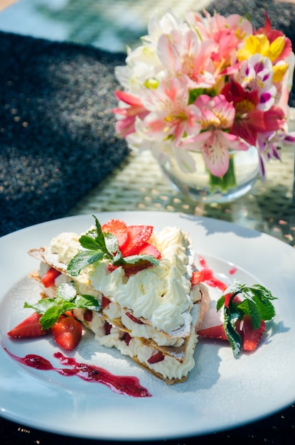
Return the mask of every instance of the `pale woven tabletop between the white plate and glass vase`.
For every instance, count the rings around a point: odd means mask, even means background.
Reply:
[[[267,179],[226,204],[197,203],[169,185],[149,151],[132,152],[111,175],[80,200],[68,215],[114,210],[189,213],[227,220],[295,245],[294,148],[285,146],[281,163],[267,163]]]

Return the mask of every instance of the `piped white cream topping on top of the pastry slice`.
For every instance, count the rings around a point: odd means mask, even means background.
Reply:
[[[78,240],[79,235],[65,232],[51,240],[50,254],[63,262],[65,269],[79,249]],[[83,269],[74,281],[80,286],[91,284],[97,295],[104,294],[136,318],[145,318],[158,331],[168,333],[181,328],[191,310],[194,252],[188,235],[178,227],[154,232],[150,242],[161,252],[159,265],[127,277],[122,267],[109,272],[105,260]]]

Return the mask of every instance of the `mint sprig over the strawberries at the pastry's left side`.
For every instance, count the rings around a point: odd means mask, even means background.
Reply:
[[[100,310],[100,302],[92,295],[77,294],[76,286],[73,282],[60,284],[54,299],[45,298],[36,304],[25,302],[24,308],[34,309],[43,314],[40,323],[43,329],[51,328],[63,313],[73,309]]]

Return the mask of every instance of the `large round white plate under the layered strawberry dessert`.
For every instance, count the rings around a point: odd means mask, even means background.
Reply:
[[[255,353],[233,358],[225,343],[200,340],[195,368],[184,383],[168,386],[141,370],[116,350],[100,347],[92,334],[83,338],[73,355],[119,375],[139,377],[153,397],[116,395],[104,385],[63,377],[58,372],[28,368],[0,348],[0,414],[31,427],[92,439],[171,439],[208,434],[253,422],[283,409],[295,400],[295,250],[259,232],[230,223],[191,215],[159,212],[97,214],[104,223],[121,218],[146,223],[156,230],[177,225],[190,232],[195,251],[205,257],[215,276],[261,283],[278,297],[277,316]],[[38,299],[38,286],[26,274],[38,267],[26,253],[47,244],[63,231],[82,232],[92,215],[54,220],[0,239],[0,337],[20,357],[40,354],[55,366],[58,350],[48,338],[14,341],[10,328],[28,315],[23,301]],[[218,292],[212,292],[216,299]],[[215,303],[206,317],[216,318]]]

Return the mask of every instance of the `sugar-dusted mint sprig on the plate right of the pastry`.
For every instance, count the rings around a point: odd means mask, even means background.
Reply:
[[[239,301],[235,301],[235,296],[239,296]],[[225,298],[227,298],[225,304]],[[262,320],[269,321],[275,315],[272,300],[277,297],[272,292],[260,284],[246,286],[237,280],[227,287],[225,293],[220,296],[216,304],[217,311],[223,307],[225,335],[230,342],[232,352],[235,357],[242,349],[242,338],[237,332],[236,323],[247,315],[251,317],[252,328],[258,329]]]

